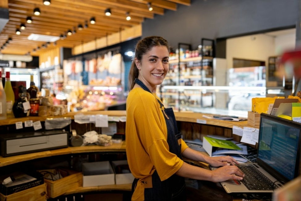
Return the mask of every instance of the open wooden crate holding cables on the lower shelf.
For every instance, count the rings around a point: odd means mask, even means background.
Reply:
[[[69,176],[63,177],[56,181],[44,179],[47,184],[47,195],[50,198],[55,198],[62,194],[65,194],[70,189],[75,189],[82,186],[82,173],[78,173],[72,170],[67,170]]]

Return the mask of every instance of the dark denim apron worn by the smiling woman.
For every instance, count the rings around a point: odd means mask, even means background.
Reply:
[[[134,82],[140,85],[144,90],[152,93],[140,80],[136,79]],[[164,107],[158,99],[157,101],[161,108]],[[162,110],[162,112],[167,126],[167,143],[169,151],[182,159],[181,144],[179,144],[179,141],[181,140],[181,133],[178,132],[173,109],[167,108],[164,109],[164,111]],[[135,178],[133,182],[132,193],[134,192],[138,180],[139,179]],[[173,174],[168,179],[161,181],[157,170],[155,170],[152,175],[152,184],[152,188],[144,189],[144,201],[186,201],[184,177]]]

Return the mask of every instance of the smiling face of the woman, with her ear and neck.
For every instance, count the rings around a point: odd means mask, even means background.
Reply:
[[[169,51],[166,46],[154,46],[142,56],[141,61],[135,58],[139,69],[138,79],[153,93],[156,92],[157,85],[162,84],[169,70],[168,59]]]

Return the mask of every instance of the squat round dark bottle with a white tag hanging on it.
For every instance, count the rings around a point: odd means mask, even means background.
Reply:
[[[29,94],[26,87],[19,86],[19,98],[16,100],[13,106],[13,112],[16,118],[29,116],[30,104],[28,102]]]

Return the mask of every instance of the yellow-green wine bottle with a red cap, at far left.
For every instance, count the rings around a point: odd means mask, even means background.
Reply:
[[[6,117],[14,118],[12,108],[15,103],[15,94],[14,94],[13,88],[11,87],[10,72],[6,72],[6,74],[5,74],[4,91],[6,94]]]

